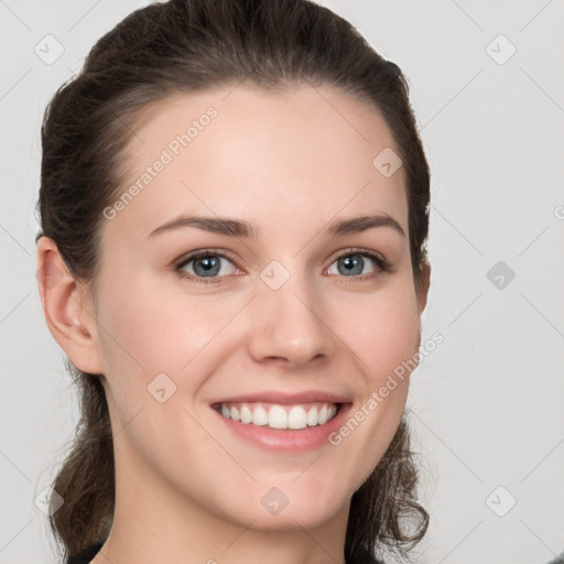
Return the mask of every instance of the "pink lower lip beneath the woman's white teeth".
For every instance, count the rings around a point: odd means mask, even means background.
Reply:
[[[328,444],[329,435],[343,425],[351,405],[351,403],[341,404],[337,414],[324,425],[296,430],[241,423],[224,417],[213,408],[212,410],[232,433],[262,449],[276,453],[304,453]]]

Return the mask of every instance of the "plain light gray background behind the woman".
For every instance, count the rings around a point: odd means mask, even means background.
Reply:
[[[147,3],[0,0],[1,563],[54,562],[35,498],[78,415],[36,289],[42,113]],[[431,512],[415,560],[546,563],[564,550],[564,1],[323,3],[408,75],[432,169],[423,340],[444,343],[409,399]]]

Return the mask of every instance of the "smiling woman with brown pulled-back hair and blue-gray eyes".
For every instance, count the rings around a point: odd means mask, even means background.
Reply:
[[[306,0],[172,0],[98,41],[42,143],[65,561],[408,557],[430,178],[400,69]]]

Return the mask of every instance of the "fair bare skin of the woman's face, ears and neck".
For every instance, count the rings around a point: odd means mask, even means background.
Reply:
[[[102,219],[93,292],[51,239],[39,241],[40,268],[63,272],[54,285],[40,281],[47,325],[76,367],[104,375],[115,434],[116,516],[95,564],[343,562],[350,497],[404,411],[409,375],[340,445],[292,456],[243,443],[212,411],[246,392],[322,389],[349,397],[354,413],[417,351],[430,278],[427,265],[417,294],[409,239],[389,227],[325,232],[384,213],[408,236],[404,170],[384,177],[372,166],[384,148],[399,152],[373,107],[328,86],[230,90],[176,96],[140,121],[124,188],[206,108],[218,111]],[[246,220],[260,237],[195,227],[149,236],[181,214]],[[354,247],[390,271],[362,257],[352,280],[337,259]],[[174,271],[175,259],[209,248],[229,256],[218,283]],[[290,273],[276,291],[260,278],[272,260]],[[184,271],[196,276],[194,265]],[[176,386],[164,403],[148,393],[162,372]],[[271,487],[289,500],[278,516],[261,505]]]

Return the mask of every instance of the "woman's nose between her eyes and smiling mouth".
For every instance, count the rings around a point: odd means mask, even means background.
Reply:
[[[268,278],[261,279],[249,312],[249,350],[254,360],[296,368],[330,357],[335,328],[314,281],[292,273],[275,288]]]

